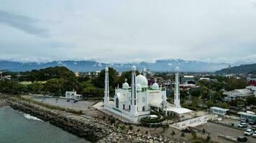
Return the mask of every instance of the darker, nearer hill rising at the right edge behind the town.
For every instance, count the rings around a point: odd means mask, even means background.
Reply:
[[[229,69],[221,69],[216,71],[217,74],[228,74]],[[233,66],[230,68],[232,74],[253,74],[256,73],[256,64],[243,64],[240,66]]]

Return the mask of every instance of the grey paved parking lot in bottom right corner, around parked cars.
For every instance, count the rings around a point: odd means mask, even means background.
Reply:
[[[225,136],[229,136],[232,139],[237,139],[237,137],[241,136],[244,134],[244,131],[239,130],[239,129],[234,129],[231,127],[226,127],[220,124],[214,124],[214,123],[206,123],[202,124],[201,126],[198,127],[199,129],[205,129],[206,132],[211,133],[211,137],[219,142],[229,142],[227,140],[219,138],[219,135],[223,134]],[[247,128],[246,128],[247,129]],[[252,136],[247,137],[248,143],[255,143],[256,138],[253,138]]]

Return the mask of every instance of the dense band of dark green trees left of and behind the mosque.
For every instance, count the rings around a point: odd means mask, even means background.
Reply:
[[[98,76],[82,74],[76,77],[73,71],[65,66],[55,66],[46,69],[25,71],[23,73],[6,71],[4,75],[12,75],[12,80],[0,81],[0,92],[11,94],[51,94],[53,96],[64,95],[66,91],[76,91],[78,94],[90,97],[103,97],[105,71],[102,69]],[[138,72],[137,72],[138,74]],[[131,71],[126,71],[122,76],[109,68],[109,89],[114,94],[114,88],[122,87],[124,79],[131,82]],[[29,82],[29,84],[26,84]]]

